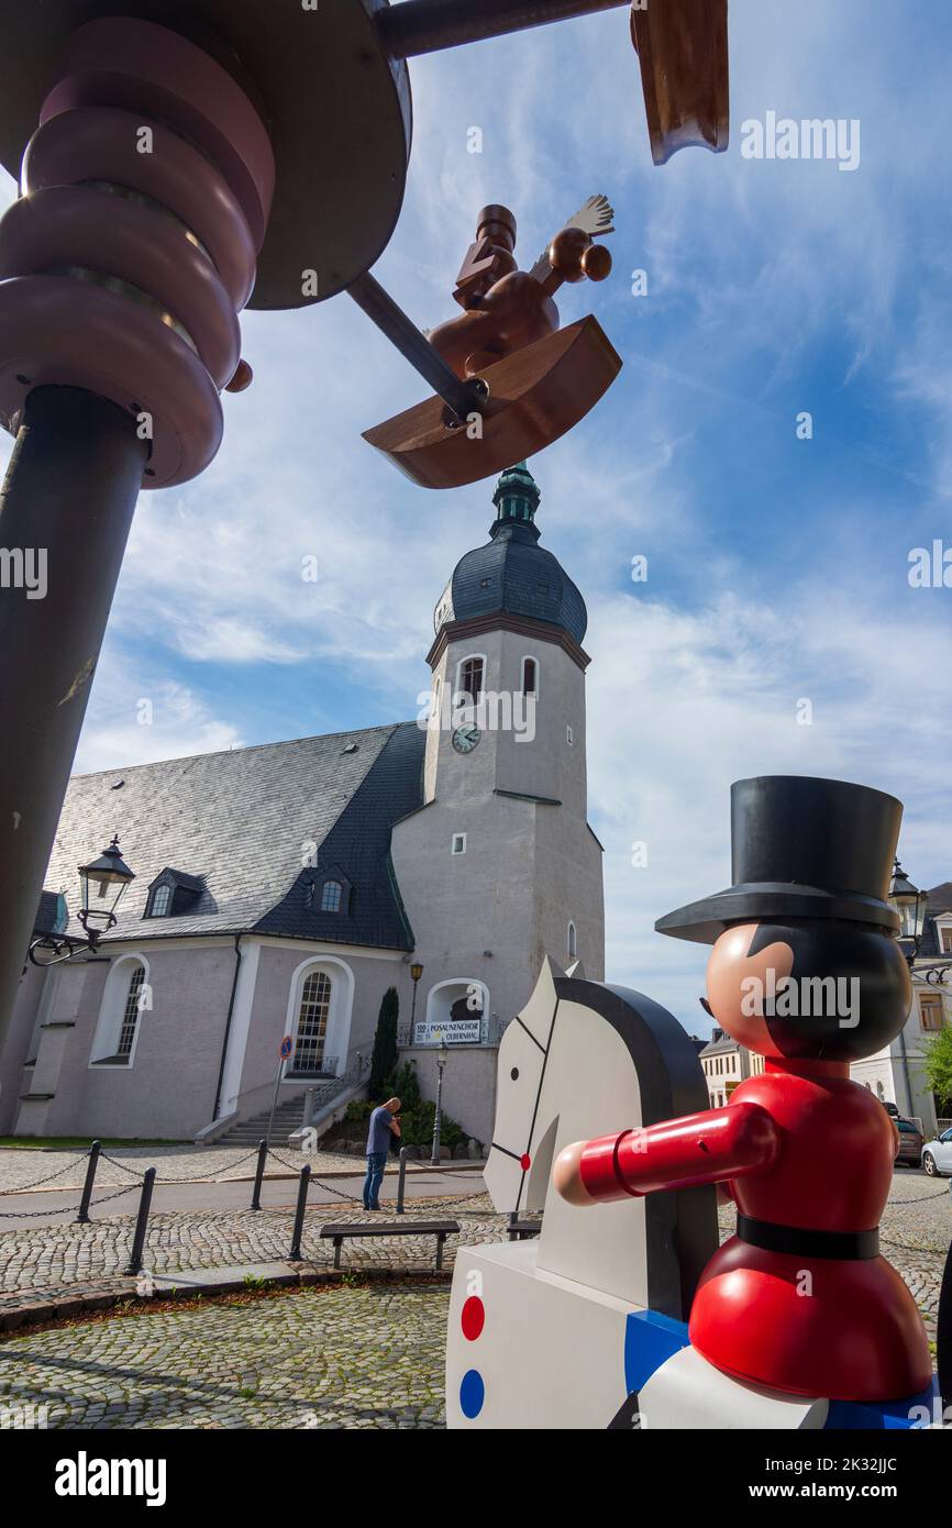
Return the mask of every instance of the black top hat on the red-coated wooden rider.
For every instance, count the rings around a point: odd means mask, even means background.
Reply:
[[[733,886],[668,912],[659,934],[714,944],[732,923],[850,918],[897,932],[886,902],[902,801],[868,785],[761,775],[730,787]]]

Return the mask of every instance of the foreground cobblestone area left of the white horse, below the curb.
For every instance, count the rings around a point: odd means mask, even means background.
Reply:
[[[0,1427],[35,1404],[49,1427],[437,1429],[448,1303],[440,1285],[312,1288],[11,1337]]]

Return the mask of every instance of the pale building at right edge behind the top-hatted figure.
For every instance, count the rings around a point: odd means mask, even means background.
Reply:
[[[926,1047],[934,1034],[952,1024],[952,882],[928,892],[926,926],[912,966],[912,1007],[905,1028],[886,1050],[850,1068],[883,1103],[895,1103],[900,1114],[921,1120],[926,1140],[935,1135],[941,1117],[932,1089],[923,1076]],[[928,981],[928,972],[934,981]],[[944,984],[934,984],[946,972]],[[949,1128],[943,1120],[943,1129]]]

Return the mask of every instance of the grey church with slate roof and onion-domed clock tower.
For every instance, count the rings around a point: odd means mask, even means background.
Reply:
[[[446,1034],[445,1106],[491,1138],[498,1039],[542,957],[604,976],[585,604],[538,545],[524,465],[494,503],[437,608],[429,723],[70,781],[38,932],[81,937],[63,898],[113,834],[136,880],[96,955],[26,967],[0,1134],[228,1134],[267,1111],[284,1034],[283,1117],[309,1086],[339,1102],[394,986],[425,1094]]]

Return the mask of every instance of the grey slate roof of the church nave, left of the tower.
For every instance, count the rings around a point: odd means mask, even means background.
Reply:
[[[63,891],[75,912],[76,866],[118,833],[136,880],[112,938],[237,934],[261,924],[269,934],[411,949],[390,868],[390,828],[423,799],[425,744],[416,723],[397,723],[75,776],[44,886]],[[330,854],[351,882],[345,915],[306,923],[295,908],[309,845],[318,847],[318,872]],[[144,918],[148,886],[170,866],[197,877],[200,894],[185,914]],[[69,932],[83,935],[75,917]]]

